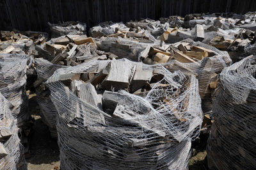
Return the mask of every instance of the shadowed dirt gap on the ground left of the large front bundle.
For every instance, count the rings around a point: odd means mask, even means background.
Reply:
[[[29,170],[50,170],[60,167],[60,151],[57,139],[52,139],[47,125],[42,122],[39,116],[39,107],[36,103],[36,96],[29,96],[29,111],[35,119],[31,128],[31,139],[29,144],[30,157],[26,158]]]

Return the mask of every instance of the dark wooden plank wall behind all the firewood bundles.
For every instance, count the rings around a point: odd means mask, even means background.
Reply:
[[[255,0],[0,0],[0,30],[47,31],[47,22],[159,19],[188,13],[256,11]]]

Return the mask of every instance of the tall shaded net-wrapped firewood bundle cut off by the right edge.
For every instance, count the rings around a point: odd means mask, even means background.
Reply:
[[[255,169],[255,78],[255,56],[244,58],[220,73],[207,145],[209,169]]]

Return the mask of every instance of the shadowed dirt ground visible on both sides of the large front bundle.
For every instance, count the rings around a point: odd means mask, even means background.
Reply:
[[[36,103],[35,94],[29,95],[29,111],[34,121],[31,128],[30,157],[26,158],[29,170],[60,169],[60,151],[56,139],[52,139],[47,125],[42,122],[40,109]],[[202,134],[200,139],[192,143],[192,157],[189,159],[189,169],[207,169],[206,141],[207,135]]]

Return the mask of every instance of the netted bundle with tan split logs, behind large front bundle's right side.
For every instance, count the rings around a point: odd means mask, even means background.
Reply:
[[[211,113],[211,95],[218,84],[218,74],[232,63],[227,52],[191,39],[147,47],[140,53],[140,60],[151,65],[161,64],[170,72],[180,70],[194,75],[199,82],[205,114]]]

